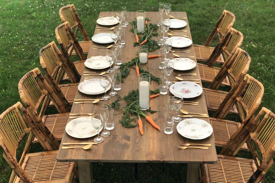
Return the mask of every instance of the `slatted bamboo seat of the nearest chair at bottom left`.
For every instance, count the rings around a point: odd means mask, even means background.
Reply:
[[[22,168],[34,182],[68,183],[73,177],[74,162],[57,162],[58,151],[26,154]],[[13,183],[23,183],[15,176]]]

